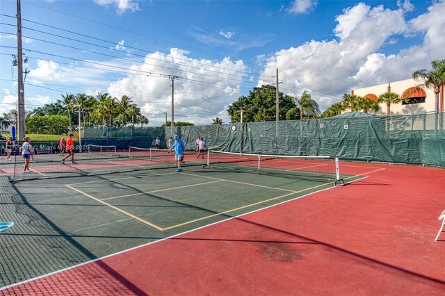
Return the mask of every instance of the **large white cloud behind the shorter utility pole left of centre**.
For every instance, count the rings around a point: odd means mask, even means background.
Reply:
[[[132,65],[131,69],[153,75],[128,75],[111,83],[107,91],[114,97],[128,94],[141,107],[151,125],[159,126],[165,121],[164,112],[168,113],[170,120],[172,91],[168,84],[171,81],[155,73],[164,73],[165,69],[161,70],[159,66],[168,66],[173,68],[169,70],[170,75],[179,76],[175,79],[175,122],[209,124],[212,118],[218,116],[228,123],[226,109],[240,96],[241,84],[236,80],[238,76],[230,74],[245,71],[245,65],[240,60],[229,58],[220,61],[196,60],[188,58],[188,54],[188,51],[181,49],[171,49],[168,55],[148,54],[145,64]]]

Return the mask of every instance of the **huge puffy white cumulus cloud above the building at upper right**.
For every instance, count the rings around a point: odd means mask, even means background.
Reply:
[[[336,18],[334,39],[311,40],[277,51],[269,56],[262,73],[273,75],[278,67],[280,80],[317,91],[314,98],[325,107],[335,99],[324,94],[339,100],[354,88],[410,78],[416,69],[428,67],[426,60],[444,58],[445,2],[432,3],[428,12],[412,20],[405,19],[407,3],[396,10],[365,3],[346,8]],[[404,34],[421,34],[423,42],[396,54],[380,52],[385,44],[396,42],[394,36]]]

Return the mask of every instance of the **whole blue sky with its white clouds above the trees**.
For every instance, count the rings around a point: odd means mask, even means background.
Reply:
[[[0,115],[17,103],[16,1],[0,1]],[[321,109],[351,89],[408,79],[444,59],[444,1],[22,0],[26,110],[61,94],[127,94],[159,126],[229,122],[262,84]]]

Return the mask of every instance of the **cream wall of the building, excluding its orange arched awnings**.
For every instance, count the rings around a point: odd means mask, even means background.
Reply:
[[[414,79],[406,79],[402,81],[396,81],[391,82],[391,92],[396,92],[398,95],[402,96],[403,92],[407,90],[408,88],[412,88],[413,86],[419,85]],[[364,97],[366,94],[375,94],[377,97],[380,96],[380,94],[387,92],[388,90],[388,83],[385,84],[379,84],[370,86],[369,88],[358,88],[357,90],[354,90],[354,94],[357,94],[358,96]],[[432,90],[427,89],[426,92],[426,99],[425,103],[420,104],[410,104],[410,105],[402,105],[402,103],[399,104],[391,104],[391,115],[405,115],[405,114],[419,114],[426,112],[434,111],[435,107],[435,94]],[[380,110],[381,115],[386,115],[387,113],[387,106],[384,103],[380,103],[380,107],[382,108]]]

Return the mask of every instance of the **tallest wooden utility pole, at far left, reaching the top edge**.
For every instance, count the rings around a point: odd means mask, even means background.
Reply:
[[[20,0],[17,0],[17,85],[18,85],[18,137],[25,137],[25,90],[23,82],[23,57],[22,57],[22,13],[20,8]]]

